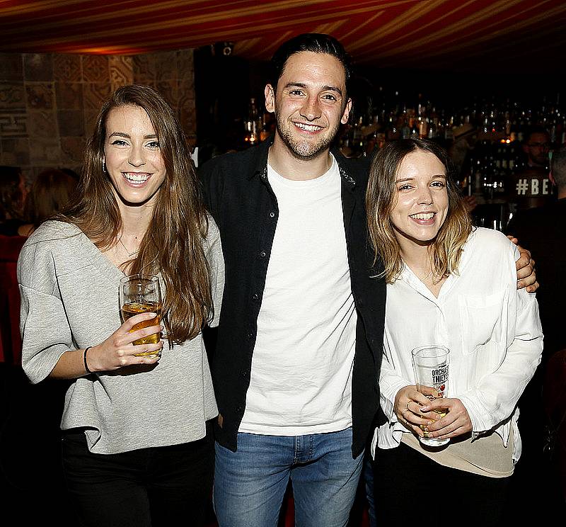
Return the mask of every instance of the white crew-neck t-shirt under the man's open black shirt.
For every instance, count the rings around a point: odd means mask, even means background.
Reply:
[[[340,171],[291,181],[267,166],[279,219],[239,431],[295,436],[352,425],[356,312]]]

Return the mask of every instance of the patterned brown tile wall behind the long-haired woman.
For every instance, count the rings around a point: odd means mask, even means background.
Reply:
[[[86,137],[105,98],[149,84],[196,137],[192,50],[147,55],[0,53],[0,164],[28,179],[47,168],[79,171]]]

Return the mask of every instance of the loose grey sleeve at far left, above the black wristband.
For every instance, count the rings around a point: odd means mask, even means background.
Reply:
[[[59,297],[48,244],[28,239],[18,259],[21,295],[22,366],[34,384],[45,379],[62,354],[74,349],[71,328]]]

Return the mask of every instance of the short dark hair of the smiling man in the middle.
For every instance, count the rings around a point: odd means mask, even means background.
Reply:
[[[287,42],[283,42],[283,44],[279,46],[279,49],[271,58],[270,81],[273,89],[277,88],[277,81],[279,81],[279,77],[282,76],[289,57],[302,51],[325,53],[326,55],[336,57],[344,67],[346,91],[348,91],[348,85],[352,78],[352,60],[350,59],[350,55],[347,54],[344,46],[342,46],[338,40],[323,33],[303,33],[302,35],[297,35],[287,40]]]

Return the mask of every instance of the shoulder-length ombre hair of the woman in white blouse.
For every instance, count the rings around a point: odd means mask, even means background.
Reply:
[[[446,150],[425,139],[402,139],[388,142],[374,157],[369,172],[366,210],[369,239],[374,249],[374,263],[381,256],[384,269],[379,275],[393,283],[403,271],[403,259],[395,237],[391,210],[397,203],[395,179],[405,156],[422,150],[434,154],[446,169],[448,213],[437,236],[429,245],[429,254],[436,276],[458,271],[463,244],[472,229],[470,215],[453,179],[453,167]]]

